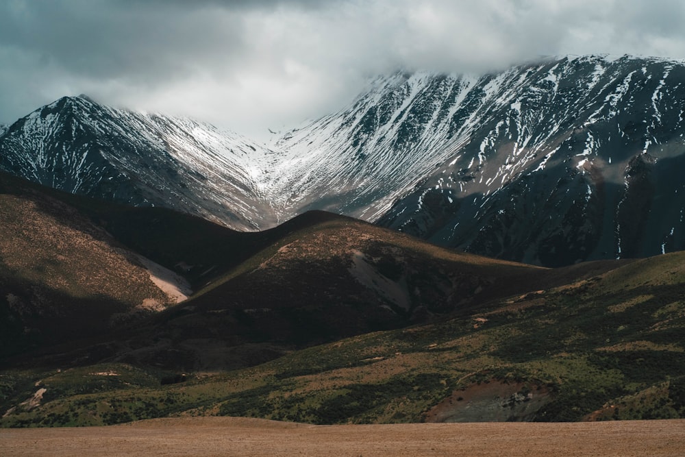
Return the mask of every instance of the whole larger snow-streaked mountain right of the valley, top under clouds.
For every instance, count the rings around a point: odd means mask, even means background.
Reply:
[[[684,82],[606,55],[397,73],[275,143],[273,198],[536,264],[685,249]]]

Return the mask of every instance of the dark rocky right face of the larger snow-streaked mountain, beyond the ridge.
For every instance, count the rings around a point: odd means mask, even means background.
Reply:
[[[378,222],[545,265],[685,249],[685,66],[563,58],[483,77],[460,145]]]

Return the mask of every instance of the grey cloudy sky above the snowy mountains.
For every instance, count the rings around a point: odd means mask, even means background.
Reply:
[[[685,59],[682,0],[0,0],[0,123],[63,95],[259,138],[395,69]]]

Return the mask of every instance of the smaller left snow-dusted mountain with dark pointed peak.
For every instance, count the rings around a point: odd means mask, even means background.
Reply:
[[[240,230],[269,220],[266,152],[208,124],[64,97],[9,127],[0,167],[71,193],[166,206]]]

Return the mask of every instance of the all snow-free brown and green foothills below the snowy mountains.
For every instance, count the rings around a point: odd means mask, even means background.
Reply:
[[[242,233],[2,178],[3,426],[685,415],[683,253],[545,269],[324,212]],[[148,242],[196,292],[112,319],[164,299]]]

